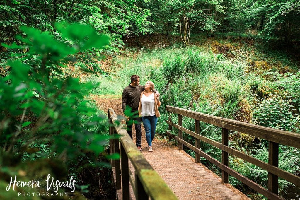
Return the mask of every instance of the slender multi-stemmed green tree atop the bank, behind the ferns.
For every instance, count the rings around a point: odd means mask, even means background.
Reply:
[[[214,19],[218,13],[223,13],[223,6],[218,1],[203,0],[160,0],[151,1],[154,14],[158,16],[159,28],[169,33],[171,27],[173,30],[179,30],[181,40],[184,46],[189,44],[190,32],[198,27],[204,31],[214,31],[219,23]],[[159,9],[158,9],[159,8]]]

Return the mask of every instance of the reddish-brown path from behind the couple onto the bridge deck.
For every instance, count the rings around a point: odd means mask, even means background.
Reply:
[[[123,116],[122,97],[112,95],[92,95],[96,105],[107,112],[112,108],[117,115]],[[125,120],[121,122],[125,124]],[[133,126],[133,141],[135,143],[135,130]],[[145,129],[142,125],[142,154],[153,169],[164,179],[178,199],[249,199],[230,184],[221,183],[221,178],[207,169],[177,146],[169,144],[167,139],[155,136],[152,142],[153,152],[146,149]],[[134,168],[129,166],[134,174]],[[131,197],[134,198],[132,187]],[[118,196],[122,195],[119,193]],[[120,198],[119,198],[120,199]]]

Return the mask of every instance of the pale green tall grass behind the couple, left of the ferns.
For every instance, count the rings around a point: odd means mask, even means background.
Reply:
[[[161,72],[154,75],[153,69],[158,69],[167,58],[183,56],[185,49],[181,48],[155,48],[142,49],[137,53],[130,53],[128,56],[117,56],[113,58],[110,68],[114,71],[108,77],[87,77],[84,81],[99,83],[93,94],[122,94],[123,88],[130,83],[133,74],[140,76],[140,84],[147,80],[160,79]],[[159,70],[158,70],[159,71]]]

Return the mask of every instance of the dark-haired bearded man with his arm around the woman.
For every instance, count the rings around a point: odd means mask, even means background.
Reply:
[[[130,77],[131,83],[124,88],[122,94],[122,109],[124,115],[126,117],[126,125],[127,125],[127,132],[132,139],[132,125],[134,123],[135,131],[136,131],[136,145],[139,151],[142,151],[141,147],[141,140],[142,140],[142,130],[141,130],[141,123],[142,118],[137,116],[130,120],[128,116],[125,114],[126,106],[131,108],[131,112],[137,112],[140,103],[140,95],[141,92],[145,90],[144,85],[140,85],[140,76],[132,75]],[[154,90],[155,95],[159,96],[157,90]],[[137,114],[138,115],[138,114]]]

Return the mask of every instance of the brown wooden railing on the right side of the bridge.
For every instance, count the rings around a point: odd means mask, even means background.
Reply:
[[[179,130],[178,136],[174,136],[167,131],[166,133],[169,136],[169,140],[171,138],[176,139],[178,141],[179,149],[182,149],[182,145],[185,145],[191,150],[195,151],[195,162],[200,162],[200,157],[202,156],[205,157],[206,160],[210,161],[218,168],[220,168],[222,170],[222,181],[224,183],[228,183],[228,174],[232,175],[239,181],[243,182],[247,186],[251,187],[253,190],[256,190],[258,193],[264,195],[269,199],[282,199],[280,196],[278,196],[278,177],[283,178],[286,181],[289,181],[297,186],[300,186],[299,176],[278,168],[278,144],[280,143],[283,145],[300,148],[300,134],[244,123],[236,120],[220,118],[213,115],[207,115],[200,112],[194,112],[173,106],[166,106],[166,110],[168,112],[178,114],[178,124],[173,123],[170,117],[167,121],[167,124],[169,124],[169,130],[172,130],[172,127],[175,127]],[[195,119],[195,131],[188,130],[182,126],[182,116]],[[222,143],[201,136],[199,121],[222,127]],[[250,155],[244,154],[241,151],[238,151],[234,148],[230,148],[228,146],[228,130],[238,131],[241,133],[249,134],[251,136],[255,136],[257,138],[268,140],[268,163],[258,160]],[[195,146],[182,139],[182,132],[195,137]],[[206,142],[216,148],[221,149],[222,162],[219,162],[218,160],[209,156],[205,152],[201,151],[200,141]],[[268,190],[228,167],[228,154],[239,157],[249,163],[252,163],[268,171]]]

